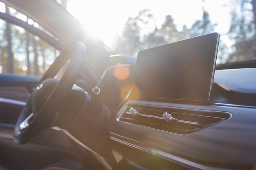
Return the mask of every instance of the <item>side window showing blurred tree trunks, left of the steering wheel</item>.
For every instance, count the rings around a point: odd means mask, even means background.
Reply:
[[[18,15],[40,29],[37,23],[12,8],[6,7],[6,13]],[[0,19],[0,73],[42,76],[59,53],[38,36]]]

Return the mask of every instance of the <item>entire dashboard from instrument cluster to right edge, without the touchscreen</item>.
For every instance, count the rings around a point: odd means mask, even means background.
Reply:
[[[110,146],[119,165],[159,170],[255,166],[256,68],[216,70],[209,99],[177,99],[137,89],[136,64],[125,58],[106,68],[97,84],[110,111]],[[129,74],[120,79],[117,70]]]

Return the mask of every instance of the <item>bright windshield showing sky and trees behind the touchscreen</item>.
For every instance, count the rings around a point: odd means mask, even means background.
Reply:
[[[217,64],[256,60],[255,0],[68,0],[63,4],[115,53],[136,57],[139,50],[218,32]]]

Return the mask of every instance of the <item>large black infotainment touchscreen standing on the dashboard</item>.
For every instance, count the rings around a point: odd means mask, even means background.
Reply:
[[[136,85],[141,96],[209,100],[219,34],[211,33],[139,51]]]

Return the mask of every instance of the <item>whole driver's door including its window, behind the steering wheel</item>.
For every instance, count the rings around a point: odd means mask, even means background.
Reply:
[[[28,24],[31,19],[19,19],[19,10],[5,9],[0,13],[0,170],[81,169],[92,155],[62,130],[43,130],[26,145],[13,141],[18,116],[40,81],[31,75],[42,76],[64,45],[39,22]]]

